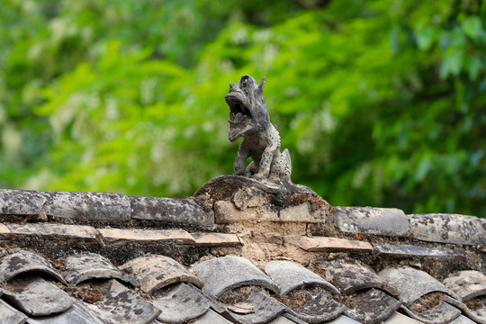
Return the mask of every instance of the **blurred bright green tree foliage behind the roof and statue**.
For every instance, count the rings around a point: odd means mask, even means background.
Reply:
[[[480,0],[5,0],[0,186],[191,195],[232,173],[250,74],[294,182],[484,217],[485,49]]]

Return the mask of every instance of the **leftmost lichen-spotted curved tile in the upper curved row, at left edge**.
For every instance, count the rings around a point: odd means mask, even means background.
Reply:
[[[0,260],[0,283],[30,271],[40,271],[52,275],[62,283],[66,283],[58,270],[45,258],[30,251],[20,251]]]

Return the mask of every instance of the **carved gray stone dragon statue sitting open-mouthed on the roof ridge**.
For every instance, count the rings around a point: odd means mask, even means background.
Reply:
[[[292,165],[287,148],[280,152],[280,134],[270,122],[263,88],[266,77],[260,84],[253,76],[241,76],[238,84],[229,84],[229,93],[224,97],[229,105],[229,141],[240,137],[235,157],[234,175],[246,175],[270,182],[291,181]],[[245,165],[247,158],[253,161]]]

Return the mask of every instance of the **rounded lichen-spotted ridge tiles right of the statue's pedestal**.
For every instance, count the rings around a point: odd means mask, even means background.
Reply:
[[[331,222],[343,232],[486,245],[486,220],[460,214],[412,214],[393,208],[337,207]]]

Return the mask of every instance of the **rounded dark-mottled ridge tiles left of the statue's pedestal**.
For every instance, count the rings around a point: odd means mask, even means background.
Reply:
[[[0,189],[0,214],[59,219],[163,223],[211,229],[214,216],[191,199]]]

